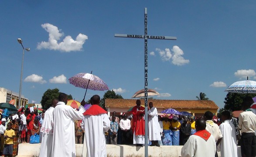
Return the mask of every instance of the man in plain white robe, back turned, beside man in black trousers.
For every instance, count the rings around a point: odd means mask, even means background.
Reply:
[[[221,157],[237,157],[236,128],[229,120],[229,111],[223,111],[221,119],[223,121],[219,126],[223,136],[220,143]]]

